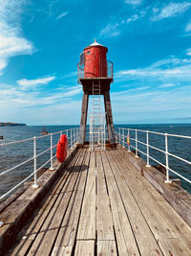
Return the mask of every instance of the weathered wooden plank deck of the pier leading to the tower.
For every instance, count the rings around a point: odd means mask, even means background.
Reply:
[[[79,149],[10,255],[191,255],[191,228],[121,150]]]

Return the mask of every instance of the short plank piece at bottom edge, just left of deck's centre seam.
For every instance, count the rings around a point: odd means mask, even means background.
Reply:
[[[95,255],[95,241],[77,241],[74,251],[75,256],[94,256]]]

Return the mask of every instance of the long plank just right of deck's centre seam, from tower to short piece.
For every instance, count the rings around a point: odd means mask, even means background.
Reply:
[[[100,158],[96,152],[96,232],[97,240],[115,240],[112,213],[109,206],[109,197],[106,190],[105,177]]]

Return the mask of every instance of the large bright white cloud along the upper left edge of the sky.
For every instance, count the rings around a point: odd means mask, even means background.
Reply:
[[[9,58],[31,55],[32,43],[21,35],[20,15],[24,0],[4,0],[0,5],[0,75]]]

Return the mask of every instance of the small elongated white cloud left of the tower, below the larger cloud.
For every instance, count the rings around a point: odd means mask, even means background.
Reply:
[[[36,85],[42,85],[42,84],[48,84],[50,81],[53,81],[55,77],[47,77],[47,78],[42,78],[42,79],[36,79],[36,80],[18,80],[16,81],[20,86],[22,86],[23,90],[29,89],[33,86]]]

